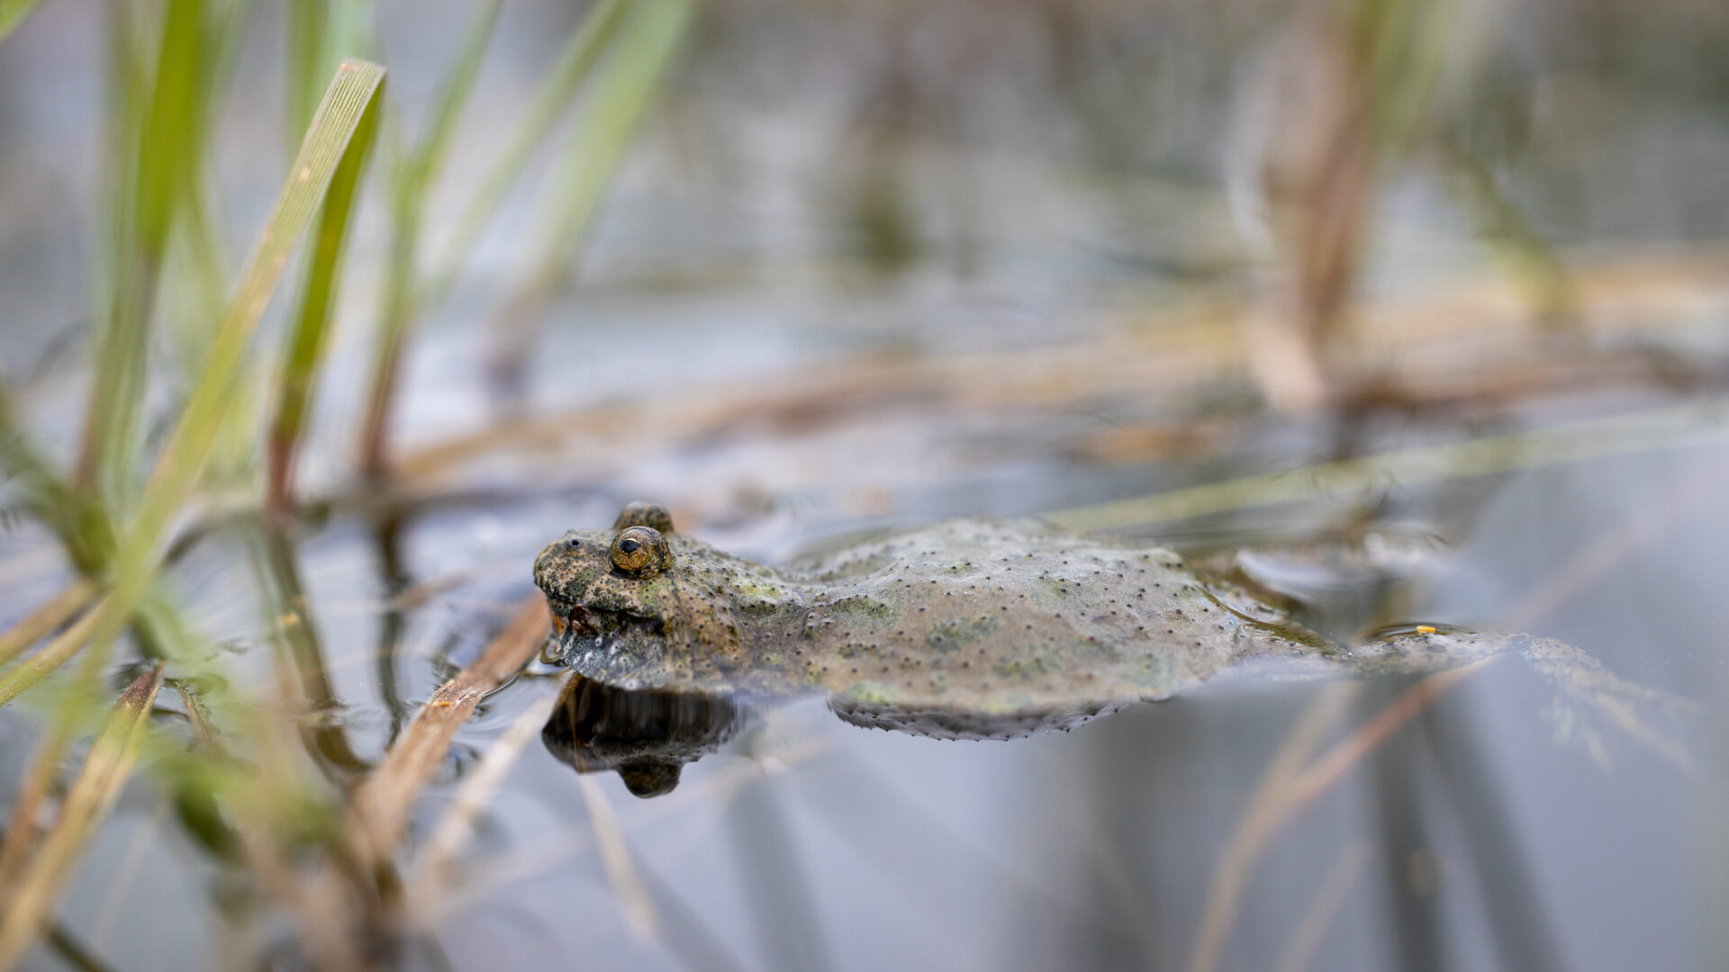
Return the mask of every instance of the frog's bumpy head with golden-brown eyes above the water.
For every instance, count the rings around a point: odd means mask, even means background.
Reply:
[[[671,534],[664,507],[631,503],[612,529],[572,529],[541,550],[534,583],[567,659],[593,649],[659,654],[679,607]]]

